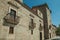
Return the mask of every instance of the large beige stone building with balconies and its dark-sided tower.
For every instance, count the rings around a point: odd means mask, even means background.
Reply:
[[[49,25],[47,4],[30,9],[23,0],[0,0],[0,40],[46,40]]]

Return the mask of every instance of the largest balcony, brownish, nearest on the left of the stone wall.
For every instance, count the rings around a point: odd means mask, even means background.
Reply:
[[[9,24],[13,24],[13,25],[17,25],[19,23],[19,16],[16,16],[14,18],[14,16],[11,16],[10,14],[7,14],[5,17],[4,17],[4,21],[6,23],[9,23]]]

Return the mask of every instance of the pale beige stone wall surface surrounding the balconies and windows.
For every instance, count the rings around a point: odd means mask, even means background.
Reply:
[[[11,2],[13,5],[8,4],[8,2]],[[19,8],[16,8],[14,5]],[[3,25],[3,18],[10,12],[10,9],[15,10],[17,16],[19,16],[19,23],[14,26],[14,34],[9,34],[10,26]],[[31,17],[30,14],[33,15],[34,18]],[[33,35],[31,34],[31,30],[29,30],[29,22],[31,18],[36,23]],[[28,11],[16,1],[0,0],[0,40],[40,40],[40,32],[42,32],[42,39],[44,40],[44,31],[39,31],[39,20],[41,20],[39,17]],[[43,24],[43,21],[41,23]]]

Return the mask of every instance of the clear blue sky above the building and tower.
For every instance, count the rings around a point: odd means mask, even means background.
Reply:
[[[52,24],[58,26],[60,24],[60,0],[23,0],[23,2],[32,8],[32,6],[47,3],[51,13]]]

